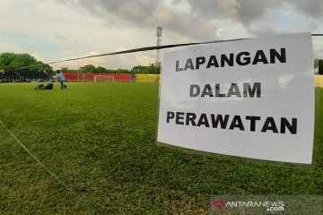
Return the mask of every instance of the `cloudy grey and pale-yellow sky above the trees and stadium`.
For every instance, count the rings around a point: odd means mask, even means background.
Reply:
[[[156,45],[323,33],[322,0],[0,0],[0,53],[29,53],[43,62]],[[323,58],[323,37],[313,38]],[[172,49],[163,50],[162,54]],[[131,68],[155,62],[156,52],[105,56],[84,64]]]

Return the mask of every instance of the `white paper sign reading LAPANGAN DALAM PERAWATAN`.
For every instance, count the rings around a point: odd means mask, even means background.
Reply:
[[[313,62],[310,33],[244,39],[166,54],[157,141],[310,164]]]

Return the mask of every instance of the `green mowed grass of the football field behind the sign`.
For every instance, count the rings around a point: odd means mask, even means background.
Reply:
[[[241,159],[156,144],[158,84],[0,84],[0,214],[209,214],[222,194],[322,194],[323,90],[313,164]]]

